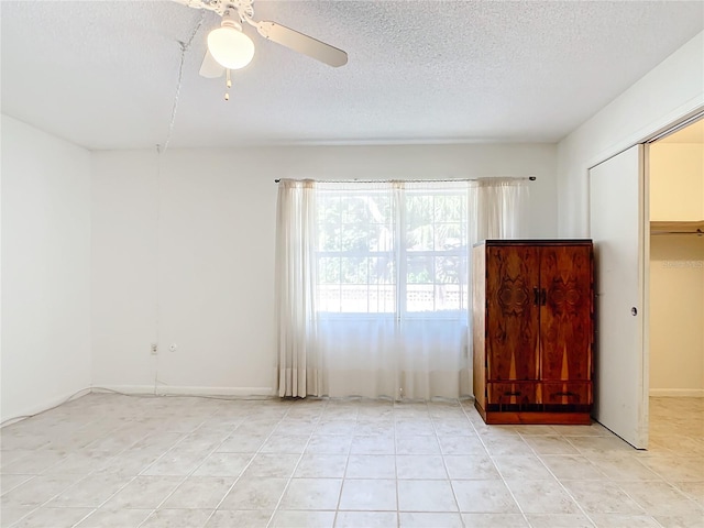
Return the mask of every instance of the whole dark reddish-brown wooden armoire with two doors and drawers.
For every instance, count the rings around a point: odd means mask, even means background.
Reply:
[[[486,424],[590,424],[591,240],[487,240],[473,265],[474,400]]]

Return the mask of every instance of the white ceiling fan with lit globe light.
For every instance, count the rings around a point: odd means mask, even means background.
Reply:
[[[312,36],[271,21],[253,19],[254,0],[174,0],[194,9],[215,11],[222,16],[220,28],[208,34],[208,51],[200,65],[200,75],[220,77],[226,70],[240,69],[254,56],[254,43],[242,32],[242,23],[254,28],[260,35],[295,52],[333,67],[344,66],[348,54]]]

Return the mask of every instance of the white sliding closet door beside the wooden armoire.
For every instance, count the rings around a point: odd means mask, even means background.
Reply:
[[[636,145],[590,169],[596,283],[594,418],[639,449],[648,447],[649,388],[644,148]]]

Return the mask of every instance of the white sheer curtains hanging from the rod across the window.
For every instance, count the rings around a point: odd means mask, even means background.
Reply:
[[[471,394],[470,251],[519,235],[512,180],[282,180],[279,395]]]

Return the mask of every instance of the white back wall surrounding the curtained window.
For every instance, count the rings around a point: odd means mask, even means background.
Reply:
[[[271,394],[275,178],[536,176],[530,234],[557,232],[554,145],[97,152],[94,384]],[[158,341],[157,358],[150,343]],[[169,352],[170,343],[177,344]]]

